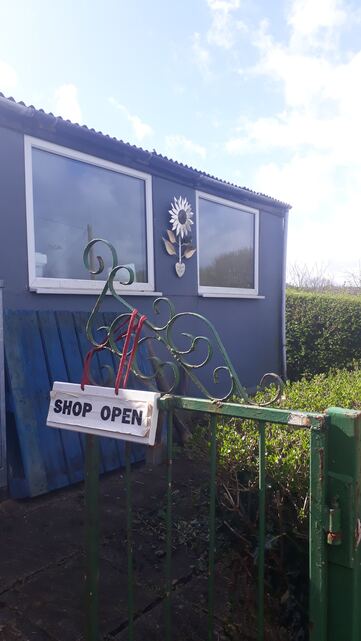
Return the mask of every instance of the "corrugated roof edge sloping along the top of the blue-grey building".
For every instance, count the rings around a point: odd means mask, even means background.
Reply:
[[[147,149],[143,149],[142,147],[138,147],[137,145],[131,145],[128,142],[124,142],[123,140],[119,138],[115,138],[114,136],[110,136],[109,134],[104,134],[102,131],[96,131],[95,129],[88,127],[87,125],[80,125],[79,123],[74,123],[70,120],[62,118],[62,116],[55,116],[52,112],[46,112],[44,109],[37,109],[34,107],[34,105],[26,105],[22,100],[17,101],[15,98],[12,96],[8,97],[5,96],[1,91],[0,91],[0,107],[2,102],[6,103],[11,103],[14,106],[18,106],[19,108],[25,108],[26,110],[33,111],[34,114],[42,114],[45,118],[53,118],[56,122],[63,123],[66,126],[69,126],[69,128],[72,128],[75,131],[82,130],[84,132],[89,132],[89,134],[95,134],[97,136],[101,136],[104,139],[112,140],[116,143],[119,143],[119,145],[125,146],[128,149],[132,149],[135,152],[145,154],[151,158],[158,158],[161,161],[164,161],[165,163],[168,163],[170,167],[178,167],[182,170],[186,170],[187,172],[191,172],[194,174],[194,177],[200,177],[200,178],[208,178],[210,180],[214,180],[217,183],[220,183],[220,185],[224,185],[229,188],[233,189],[239,189],[242,192],[246,192],[250,195],[250,197],[256,197],[259,199],[264,199],[268,201],[269,203],[272,203],[273,205],[278,205],[282,208],[285,209],[290,209],[291,205],[282,202],[281,200],[278,200],[277,198],[272,198],[271,196],[267,196],[266,194],[263,194],[258,191],[254,191],[252,189],[249,189],[248,187],[241,187],[240,185],[237,185],[235,183],[232,183],[228,180],[222,180],[221,178],[217,178],[217,176],[213,176],[212,174],[209,174],[205,171],[201,171],[199,169],[195,169],[194,167],[190,165],[186,165],[184,163],[178,162],[177,160],[173,160],[172,158],[168,158],[167,156],[164,156],[163,154],[159,154],[155,150],[149,151]],[[4,104],[3,102],[3,104]]]

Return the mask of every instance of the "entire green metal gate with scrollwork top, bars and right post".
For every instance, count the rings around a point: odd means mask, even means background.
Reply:
[[[93,269],[93,247],[103,243],[110,250],[113,267],[87,323],[89,341],[97,348],[110,350],[121,356],[121,347],[116,337],[119,324],[133,312],[133,308],[116,292],[115,279],[120,269],[127,270],[130,284],[133,271],[118,264],[114,247],[107,241],[91,241],[85,252],[84,262],[93,275],[104,269],[104,260],[97,256],[98,269]],[[96,327],[97,312],[105,296],[110,293],[125,309],[110,326]],[[179,380],[183,369],[195,386],[206,397],[187,398],[166,394],[159,400],[159,409],[167,413],[167,488],[166,488],[166,556],[164,573],[165,639],[172,639],[172,439],[175,410],[201,412],[210,416],[210,505],[209,505],[209,586],[208,586],[208,641],[214,640],[214,582],[216,548],[216,471],[217,471],[217,419],[234,417],[251,419],[258,425],[259,432],[259,542],[258,542],[258,614],[257,640],[265,640],[264,631],[264,568],[266,537],[266,426],[278,425],[279,429],[305,429],[310,432],[310,502],[309,502],[309,600],[310,600],[310,641],[361,641],[361,414],[331,408],[325,414],[297,412],[270,407],[279,398],[282,381],[274,374],[263,377],[261,385],[273,382],[274,394],[264,405],[256,405],[241,385],[232,366],[219,334],[204,317],[193,312],[175,312],[173,304],[166,298],[153,302],[153,311],[159,314],[164,306],[168,317],[161,325],[146,321],[148,334],[139,343],[155,341],[161,343],[171,356],[162,361],[158,356],[150,357],[154,374],[145,375],[136,363],[133,372],[142,381],[154,382],[164,367],[173,372],[170,392]],[[180,348],[174,339],[174,328],[181,319],[197,319],[207,328],[208,336],[193,336],[181,332],[188,341],[187,348]],[[103,339],[96,338],[99,330]],[[192,362],[189,356],[203,346],[206,355]],[[221,371],[228,375],[228,392],[215,398],[198,377],[198,370],[211,362],[214,346],[223,358],[223,365],[213,369],[213,380],[217,382]],[[240,403],[229,402],[237,396]],[[99,445],[97,437],[86,437],[86,641],[99,641]],[[128,557],[128,639],[134,639],[133,601],[133,536],[132,536],[132,495],[130,446],[126,445],[126,525]]]

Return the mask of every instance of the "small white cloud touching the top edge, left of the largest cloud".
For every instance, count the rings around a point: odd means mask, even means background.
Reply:
[[[240,0],[207,0],[211,10],[212,24],[207,33],[210,44],[223,49],[231,49],[236,42],[237,32],[246,27],[236,20],[233,12],[239,9]]]

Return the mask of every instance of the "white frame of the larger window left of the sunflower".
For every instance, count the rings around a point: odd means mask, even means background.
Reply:
[[[57,154],[72,160],[79,160],[88,165],[94,165],[113,172],[125,174],[144,180],[145,184],[145,212],[146,212],[146,247],[147,247],[147,283],[133,283],[122,286],[116,284],[115,289],[119,293],[144,295],[154,292],[154,241],[153,241],[153,207],[152,207],[152,177],[149,174],[118,165],[96,156],[82,153],[69,147],[63,147],[46,140],[24,136],[24,157],[25,157],[25,198],[26,198],[26,224],[28,241],[28,269],[29,288],[38,293],[69,293],[69,294],[98,294],[102,291],[105,280],[87,280],[77,278],[44,278],[36,276],[35,268],[35,226],[34,226],[34,199],[33,199],[33,167],[32,149],[41,149],[52,154]],[[121,224],[121,220],[119,220]],[[108,240],[108,239],[107,239]],[[111,239],[109,239],[111,240]],[[106,248],[105,248],[106,251]],[[121,261],[121,256],[118,256]]]

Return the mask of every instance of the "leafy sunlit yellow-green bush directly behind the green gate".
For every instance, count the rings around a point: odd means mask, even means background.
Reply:
[[[259,395],[259,400],[260,396]],[[236,400],[236,399],[235,399]],[[361,369],[335,370],[288,382],[284,397],[276,404],[283,409],[324,412],[328,407],[361,409]],[[282,495],[292,495],[294,505],[302,509],[309,485],[309,430],[280,426],[267,428],[267,478],[270,487],[281,488]],[[208,424],[199,426],[187,443],[195,457],[208,456]],[[253,421],[219,418],[217,424],[218,472],[227,487],[242,472],[257,480],[258,430]]]

